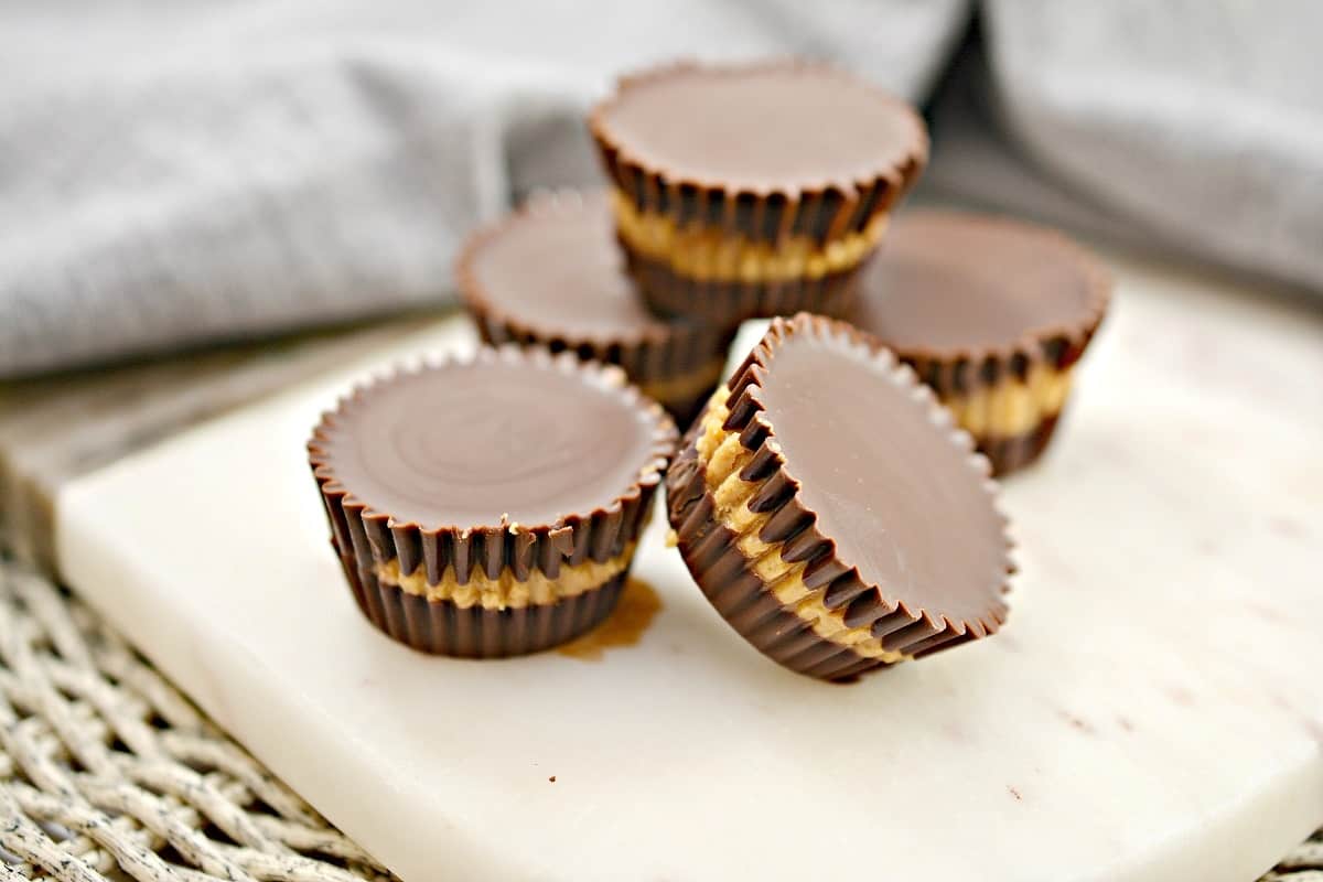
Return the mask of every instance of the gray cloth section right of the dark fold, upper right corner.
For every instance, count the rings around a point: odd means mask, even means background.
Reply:
[[[1307,0],[986,0],[929,185],[1323,290],[1323,65]]]

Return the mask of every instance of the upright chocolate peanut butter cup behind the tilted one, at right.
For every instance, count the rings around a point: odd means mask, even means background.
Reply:
[[[1101,262],[1060,233],[921,210],[896,220],[851,321],[910,364],[1005,475],[1052,439],[1110,294]]]

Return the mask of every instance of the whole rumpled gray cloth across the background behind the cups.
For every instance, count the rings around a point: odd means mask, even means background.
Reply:
[[[5,5],[0,377],[445,301],[472,225],[598,180],[582,114],[617,73],[807,54],[921,102],[971,12]],[[1323,7],[990,0],[982,17],[990,63],[955,90],[976,112],[937,108],[934,186],[1323,287]]]

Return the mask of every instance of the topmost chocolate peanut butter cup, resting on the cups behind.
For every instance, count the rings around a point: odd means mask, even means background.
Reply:
[[[626,77],[589,124],[648,305],[725,325],[843,315],[927,160],[909,104],[796,61]]]

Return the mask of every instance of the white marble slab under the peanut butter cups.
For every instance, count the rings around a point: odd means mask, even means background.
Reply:
[[[857,685],[746,647],[662,524],[636,645],[392,644],[303,459],[363,365],[66,487],[61,569],[407,882],[1250,879],[1323,821],[1323,316],[1118,274],[1057,448],[1007,487],[1009,627]]]

